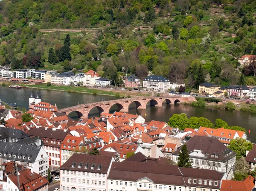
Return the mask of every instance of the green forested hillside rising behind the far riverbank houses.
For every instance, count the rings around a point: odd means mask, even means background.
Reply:
[[[2,0],[0,65],[252,85],[237,58],[256,54],[255,13],[255,0]]]

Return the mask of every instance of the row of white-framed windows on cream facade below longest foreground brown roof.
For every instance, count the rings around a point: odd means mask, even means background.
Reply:
[[[137,182],[134,182],[134,184],[132,184],[132,182],[127,182],[127,181],[118,181],[118,180],[115,180],[115,182],[113,180],[111,180],[111,184],[112,185],[124,185],[124,186],[134,186],[134,187],[139,187],[139,188],[152,188],[154,187],[155,189],[165,189],[165,190],[173,190],[174,191],[181,191],[181,187],[179,186],[170,186],[170,185],[157,185],[157,184],[148,184],[148,183],[137,183]],[[178,189],[178,190],[177,190]]]

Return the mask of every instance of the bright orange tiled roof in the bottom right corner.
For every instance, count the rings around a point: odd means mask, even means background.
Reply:
[[[254,188],[253,180],[251,175],[241,182],[235,180],[222,180],[220,191],[252,191]]]

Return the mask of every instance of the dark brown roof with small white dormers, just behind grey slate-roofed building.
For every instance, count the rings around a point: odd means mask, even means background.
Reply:
[[[64,140],[69,131],[52,128],[33,128],[28,130],[27,134],[34,137],[44,137],[48,139]]]

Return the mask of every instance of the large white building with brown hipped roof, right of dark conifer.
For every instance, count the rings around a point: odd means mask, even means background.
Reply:
[[[218,139],[196,135],[186,145],[192,168],[215,170],[224,173],[225,179],[233,178],[233,171],[230,169],[236,164],[236,153]],[[180,149],[172,153],[175,162],[178,162]]]

